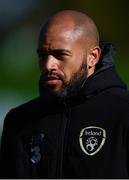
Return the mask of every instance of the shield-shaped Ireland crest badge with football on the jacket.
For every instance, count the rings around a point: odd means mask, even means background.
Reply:
[[[100,151],[106,140],[106,131],[103,128],[89,126],[80,132],[79,143],[82,151],[93,156]]]

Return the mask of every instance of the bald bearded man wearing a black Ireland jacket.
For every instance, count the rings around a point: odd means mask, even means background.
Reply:
[[[11,110],[2,178],[129,178],[129,93],[93,20],[64,10],[41,28],[40,97]]]

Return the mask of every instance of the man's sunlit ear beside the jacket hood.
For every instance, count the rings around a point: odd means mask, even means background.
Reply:
[[[96,66],[96,64],[99,61],[101,54],[101,49],[99,46],[95,46],[94,48],[91,48],[87,55],[87,66],[88,68],[93,68]]]

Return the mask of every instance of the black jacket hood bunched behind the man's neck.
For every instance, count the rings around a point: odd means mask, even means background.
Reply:
[[[101,41],[100,47],[102,52],[95,73],[86,80],[84,85],[86,96],[109,88],[127,88],[115,69],[115,49],[113,45]]]

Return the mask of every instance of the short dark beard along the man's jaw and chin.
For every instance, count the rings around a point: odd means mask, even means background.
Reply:
[[[55,92],[53,90],[50,90],[46,88],[44,84],[44,78],[43,75],[41,75],[40,81],[39,81],[39,90],[40,90],[40,96],[44,98],[59,98],[59,99],[66,99],[70,97],[76,96],[80,90],[82,89],[86,79],[87,79],[87,65],[86,60],[83,60],[79,70],[73,74],[69,82],[63,81],[63,86],[60,90],[60,92]]]

